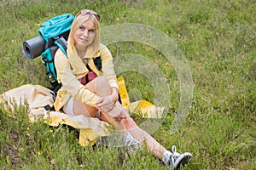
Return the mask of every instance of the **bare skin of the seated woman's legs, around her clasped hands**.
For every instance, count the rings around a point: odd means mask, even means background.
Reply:
[[[86,85],[86,88],[102,97],[108,96],[111,92],[111,87],[104,77],[97,77],[95,80],[89,82]],[[80,103],[79,101],[74,102],[73,109],[75,114],[84,114],[84,116],[96,116],[96,108],[91,107],[90,105],[81,104],[82,103]],[[126,117],[122,119],[121,122],[117,122],[115,119],[113,119],[113,116],[111,115],[115,115],[114,113],[121,111],[125,113]],[[105,122],[113,124],[114,127],[116,127],[118,130],[121,130],[122,132],[128,130],[128,132],[131,133],[134,139],[137,139],[142,144],[146,144],[146,147],[148,147],[148,150],[150,150],[154,156],[162,159],[163,153],[166,151],[166,148],[158,143],[147,132],[143,131],[142,128],[138,127],[136,122],[133,121],[131,116],[129,116],[127,111],[125,111],[125,108],[119,102],[116,102],[113,110],[109,111],[108,113],[102,111],[100,118]]]

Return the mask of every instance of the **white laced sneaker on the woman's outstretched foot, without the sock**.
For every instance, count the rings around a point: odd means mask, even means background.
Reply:
[[[187,164],[192,157],[192,154],[189,152],[185,152],[183,154],[179,154],[176,151],[176,146],[172,146],[172,155],[170,156],[169,161],[167,161],[168,166],[172,166],[173,169],[178,169]]]

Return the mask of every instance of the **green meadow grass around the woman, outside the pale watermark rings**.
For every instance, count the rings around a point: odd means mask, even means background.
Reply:
[[[188,59],[195,83],[189,116],[170,134],[180,103],[179,82],[172,63],[159,51],[138,42],[118,42],[108,48],[113,57],[141,54],[154,61],[168,79],[172,108],[154,138],[170,149],[190,151],[184,169],[255,169],[255,3],[231,1],[67,1],[2,0],[0,23],[0,94],[32,83],[48,87],[39,58],[21,54],[22,42],[38,36],[45,20],[81,8],[96,10],[102,27],[140,23],[165,33]],[[136,32],[135,32],[136,33]],[[154,87],[135,72],[124,72],[127,88],[148,101]],[[133,91],[134,92],[134,91]],[[134,96],[136,98],[137,96]],[[113,148],[82,148],[70,127],[28,122],[26,106],[0,107],[0,167],[3,169],[165,169],[147,151],[126,156]],[[15,118],[9,114],[15,114]],[[140,118],[137,118],[140,122]]]

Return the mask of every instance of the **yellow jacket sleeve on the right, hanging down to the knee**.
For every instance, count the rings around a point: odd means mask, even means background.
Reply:
[[[102,56],[102,72],[106,77],[111,88],[118,88],[116,74],[113,68],[113,57],[107,47],[103,46],[101,49]]]

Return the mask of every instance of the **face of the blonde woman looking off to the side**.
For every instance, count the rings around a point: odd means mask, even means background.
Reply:
[[[74,33],[74,41],[79,48],[85,48],[93,42],[96,36],[95,24],[92,20],[86,20]]]

